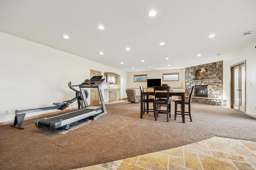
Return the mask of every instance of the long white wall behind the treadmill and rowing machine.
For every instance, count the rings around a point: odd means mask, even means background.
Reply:
[[[90,69],[120,75],[120,96],[126,98],[126,71],[0,32],[0,122],[14,120],[15,110],[72,99],[75,92],[69,89],[68,82],[76,85],[89,79]],[[105,84],[102,89],[107,87]],[[90,95],[87,100],[90,103]],[[5,115],[7,110],[9,114]]]

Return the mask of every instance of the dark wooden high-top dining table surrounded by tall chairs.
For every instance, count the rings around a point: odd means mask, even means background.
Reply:
[[[154,96],[155,93],[153,91],[147,91],[147,92],[140,92],[140,119],[143,118],[143,95],[152,95]],[[169,96],[180,96],[181,97],[181,117],[182,117],[182,123],[185,123],[185,92],[169,92]],[[148,109],[148,103],[147,103],[147,109]],[[148,112],[147,112],[148,113]]]

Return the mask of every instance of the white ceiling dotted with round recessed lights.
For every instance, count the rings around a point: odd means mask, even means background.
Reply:
[[[256,0],[0,0],[1,32],[124,71],[230,57],[256,40],[255,16]]]

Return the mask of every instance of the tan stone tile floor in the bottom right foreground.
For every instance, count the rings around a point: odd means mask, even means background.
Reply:
[[[256,170],[256,142],[213,137],[76,170]]]

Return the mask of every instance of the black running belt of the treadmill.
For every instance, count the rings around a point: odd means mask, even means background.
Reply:
[[[79,116],[79,115],[90,113],[92,111],[98,111],[99,109],[102,109],[102,107],[99,107],[96,110],[83,109],[83,110],[78,110],[78,111],[74,111],[74,112],[70,112],[70,113],[65,113],[65,114],[62,114],[62,115],[50,117],[50,118],[44,119],[42,121],[39,121],[38,124],[50,126],[51,123],[60,121],[60,119],[63,121],[63,120],[66,120],[66,119],[70,119],[70,118]]]

